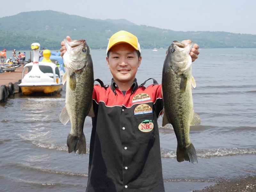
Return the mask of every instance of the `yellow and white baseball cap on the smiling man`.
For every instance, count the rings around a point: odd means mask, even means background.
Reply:
[[[117,33],[115,33],[114,35],[112,35],[108,41],[108,47],[107,47],[107,53],[108,51],[115,46],[116,44],[119,43],[128,43],[130,45],[132,45],[132,47],[139,51],[141,53],[140,50],[140,44],[138,42],[138,38],[127,32],[127,31],[118,31]]]

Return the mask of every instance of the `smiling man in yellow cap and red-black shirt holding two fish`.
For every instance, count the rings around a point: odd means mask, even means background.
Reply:
[[[193,61],[198,48],[190,52]],[[88,192],[164,191],[157,124],[162,86],[137,84],[140,53],[137,37],[127,31],[109,39],[106,60],[113,78],[109,86],[94,85]]]

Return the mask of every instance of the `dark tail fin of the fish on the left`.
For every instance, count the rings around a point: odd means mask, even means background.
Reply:
[[[68,145],[68,153],[75,152],[78,150],[78,154],[85,154],[86,153],[86,141],[84,133],[82,135],[74,136],[71,134],[68,134],[67,139],[67,145]]]

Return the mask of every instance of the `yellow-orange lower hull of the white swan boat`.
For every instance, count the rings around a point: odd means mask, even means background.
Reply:
[[[63,85],[28,85],[28,86],[20,86],[21,92],[24,95],[29,95],[32,93],[44,93],[44,94],[53,94],[56,92],[60,92],[62,90]]]

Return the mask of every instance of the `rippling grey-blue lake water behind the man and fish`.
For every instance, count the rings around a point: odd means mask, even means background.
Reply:
[[[139,84],[150,77],[161,83],[165,52],[142,50]],[[105,50],[91,53],[94,78],[109,84]],[[7,58],[10,54],[7,52]],[[162,117],[158,119],[166,192],[188,192],[224,179],[256,175],[255,68],[256,49],[200,50],[192,66],[197,85],[194,109],[202,120],[190,131],[196,165],[176,161],[177,140],[172,126],[161,127]],[[89,154],[68,153],[70,123],[59,121],[65,93],[64,87],[55,96],[15,94],[0,104],[0,191],[85,191]],[[89,152],[88,117],[84,132]]]

